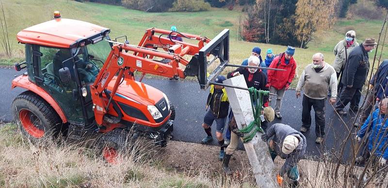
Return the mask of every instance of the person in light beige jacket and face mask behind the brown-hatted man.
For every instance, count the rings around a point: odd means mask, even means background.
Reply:
[[[345,38],[339,43],[337,43],[336,47],[334,47],[334,55],[336,58],[333,62],[333,68],[336,70],[337,73],[337,79],[341,75],[341,72],[345,68],[345,61],[349,57],[350,52],[358,46],[358,43],[356,41],[356,31],[350,30],[346,32]],[[338,85],[338,91],[342,88],[341,82],[339,82]]]

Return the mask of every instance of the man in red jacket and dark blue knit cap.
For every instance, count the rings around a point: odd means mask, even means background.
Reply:
[[[292,80],[295,77],[296,61],[292,57],[295,53],[295,48],[288,46],[286,52],[275,57],[269,68],[284,69],[286,71],[268,70],[268,85],[270,93],[276,94],[275,116],[281,119],[280,108],[284,92],[290,87]],[[274,96],[270,96],[270,103]]]

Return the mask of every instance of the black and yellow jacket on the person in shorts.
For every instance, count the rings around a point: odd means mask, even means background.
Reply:
[[[210,93],[208,96],[208,100],[206,101],[206,109],[210,106],[211,98],[214,94],[214,85],[210,86]],[[222,95],[220,97],[220,100],[214,100],[214,109],[211,109],[213,111],[213,115],[216,118],[223,118],[227,116],[228,110],[229,110],[229,100],[227,98],[226,89],[222,89]]]

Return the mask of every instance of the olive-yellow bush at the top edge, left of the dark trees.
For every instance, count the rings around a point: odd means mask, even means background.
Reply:
[[[199,12],[199,11],[208,11],[210,9],[210,4],[203,0],[176,0],[173,3],[173,8],[169,11],[171,12]]]

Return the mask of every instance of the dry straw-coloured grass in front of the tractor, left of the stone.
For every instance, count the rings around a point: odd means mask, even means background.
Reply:
[[[206,169],[179,172],[166,168],[157,148],[117,164],[107,164],[91,149],[67,144],[32,144],[16,125],[0,128],[0,187],[5,188],[207,188],[253,187],[252,182],[224,178]]]

